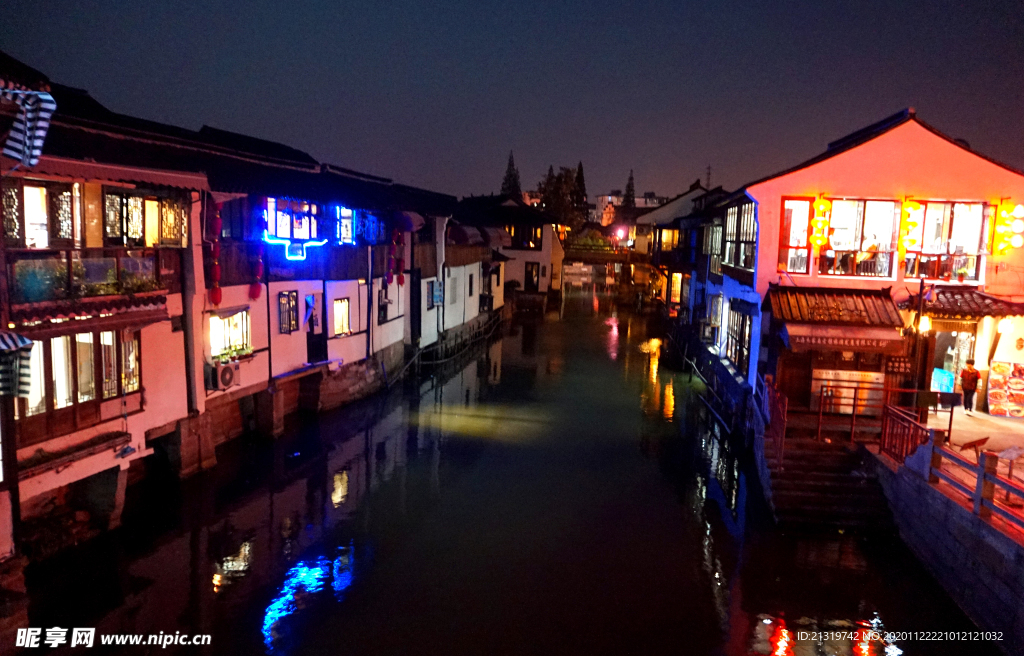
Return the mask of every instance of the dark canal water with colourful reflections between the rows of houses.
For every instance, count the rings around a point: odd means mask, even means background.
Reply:
[[[570,300],[200,477],[155,463],[122,528],[29,566],[27,625],[283,656],[850,654],[865,628],[974,627],[891,536],[775,529],[663,350],[645,317]]]

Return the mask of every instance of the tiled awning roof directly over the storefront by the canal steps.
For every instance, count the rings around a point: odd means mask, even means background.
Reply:
[[[799,323],[903,326],[888,289],[778,287],[768,289],[772,316]]]

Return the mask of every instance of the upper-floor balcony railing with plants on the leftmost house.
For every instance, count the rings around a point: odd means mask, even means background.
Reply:
[[[177,249],[11,250],[11,303],[41,303],[179,289]]]

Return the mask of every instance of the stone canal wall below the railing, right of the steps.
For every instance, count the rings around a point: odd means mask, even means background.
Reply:
[[[928,448],[903,467],[872,455],[903,541],[978,626],[1002,632],[1006,653],[1024,653],[1024,544],[930,484]]]

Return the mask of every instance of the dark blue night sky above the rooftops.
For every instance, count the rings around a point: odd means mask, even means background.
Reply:
[[[735,186],[904,106],[1024,168],[1024,3],[4,0],[0,49],[111,108],[457,194]]]

